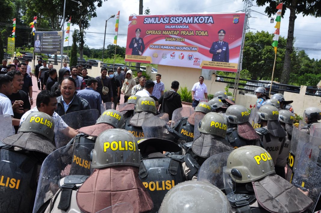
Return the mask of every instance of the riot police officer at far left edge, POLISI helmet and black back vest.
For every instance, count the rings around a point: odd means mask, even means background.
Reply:
[[[25,121],[0,147],[0,212],[32,211],[41,164],[56,149],[51,116],[32,112]]]

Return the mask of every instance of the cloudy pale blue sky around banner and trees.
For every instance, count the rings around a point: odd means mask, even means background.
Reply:
[[[81,0],[80,0],[81,1]],[[253,1],[256,5],[256,1]],[[227,13],[236,12],[243,9],[242,0],[144,0],[144,9],[150,9],[152,15],[156,14],[178,14],[178,13]],[[273,34],[275,31],[275,21],[270,23],[270,18],[260,14],[264,13],[265,7],[252,6],[251,16],[249,19],[250,31],[256,32],[265,30]],[[111,15],[120,11],[119,30],[117,45],[126,47],[128,17],[131,14],[139,13],[139,0],[108,0],[103,2],[102,7],[97,8],[97,17],[90,21],[91,26],[86,30],[85,44],[90,48],[102,48],[104,41],[105,20]],[[257,12],[259,13],[257,13]],[[281,20],[280,36],[287,37],[290,11],[286,10],[284,18]],[[274,16],[275,18],[275,16]],[[111,18],[107,23],[105,47],[113,44],[115,36],[116,18]],[[66,28],[66,24],[65,24]],[[294,26],[294,47],[299,50],[304,49],[310,58],[321,59],[321,18],[312,16],[303,17],[297,15]],[[78,26],[71,26],[70,30],[79,29]],[[70,36],[71,37],[71,36]],[[72,38],[69,45],[72,43]],[[272,43],[272,40],[271,40]],[[64,44],[68,45],[67,42]]]

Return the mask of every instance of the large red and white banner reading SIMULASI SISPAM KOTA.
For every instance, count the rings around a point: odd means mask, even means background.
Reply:
[[[129,16],[125,61],[237,72],[245,13]]]

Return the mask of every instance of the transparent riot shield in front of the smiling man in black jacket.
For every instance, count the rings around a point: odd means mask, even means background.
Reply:
[[[61,118],[68,126],[77,130],[84,126],[91,126],[96,124],[96,121],[99,118],[99,112],[97,109],[88,109],[68,113],[62,115]],[[71,139],[72,138],[66,136],[63,132],[58,130],[55,134],[56,148],[65,146]]]

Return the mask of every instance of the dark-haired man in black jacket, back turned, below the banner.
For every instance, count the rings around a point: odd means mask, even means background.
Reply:
[[[173,81],[171,90],[166,91],[158,100],[160,103],[160,113],[167,113],[169,120],[172,120],[173,111],[182,107],[180,95],[177,93],[178,81]]]

